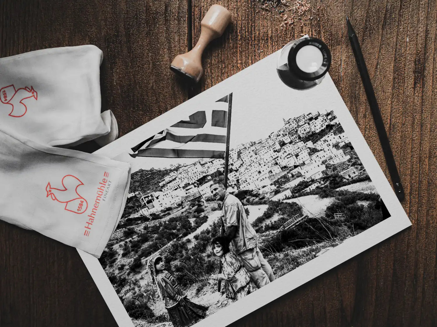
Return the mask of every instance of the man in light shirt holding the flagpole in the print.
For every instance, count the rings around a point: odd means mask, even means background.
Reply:
[[[215,200],[223,201],[222,221],[226,227],[224,236],[232,243],[253,283],[261,288],[273,282],[275,277],[272,268],[258,248],[257,232],[247,220],[241,201],[229,194],[221,182],[214,182],[210,189]]]

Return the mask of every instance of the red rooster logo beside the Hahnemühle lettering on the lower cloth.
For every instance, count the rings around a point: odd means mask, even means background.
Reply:
[[[45,187],[47,197],[50,196],[52,200],[65,203],[65,210],[74,213],[84,213],[87,211],[87,200],[77,193],[77,188],[83,185],[83,182],[73,175],[66,175],[62,177],[61,183],[64,189],[56,189],[49,182]]]

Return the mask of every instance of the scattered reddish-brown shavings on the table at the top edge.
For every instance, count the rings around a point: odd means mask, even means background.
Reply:
[[[318,12],[323,7],[313,7],[309,0],[257,0],[260,10],[281,16],[279,26],[284,28],[301,27],[304,22],[319,20]],[[259,10],[257,10],[259,11]]]

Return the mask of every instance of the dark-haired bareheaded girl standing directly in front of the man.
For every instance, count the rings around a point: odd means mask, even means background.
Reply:
[[[222,273],[210,276],[212,280],[224,281],[224,289],[228,299],[239,300],[252,293],[250,276],[237,257],[229,251],[229,243],[223,237],[213,238],[212,251],[220,257]]]

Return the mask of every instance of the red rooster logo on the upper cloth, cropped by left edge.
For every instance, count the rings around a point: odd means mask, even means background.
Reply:
[[[24,116],[27,112],[27,107],[23,100],[32,97],[38,100],[38,93],[33,89],[33,86],[30,89],[26,86],[16,90],[15,86],[11,84],[0,89],[0,101],[12,106],[12,110],[9,113],[11,117]]]

